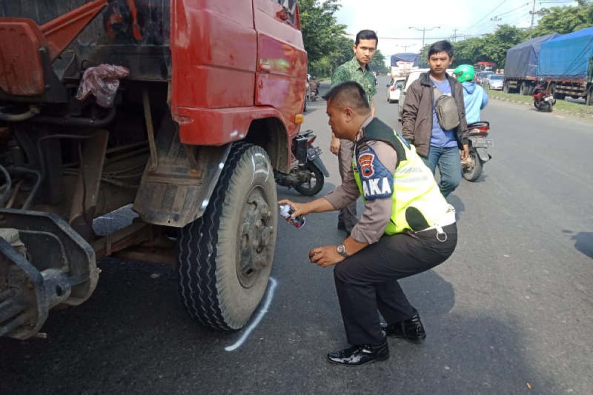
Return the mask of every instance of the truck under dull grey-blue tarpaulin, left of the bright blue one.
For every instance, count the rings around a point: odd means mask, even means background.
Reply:
[[[506,93],[533,94],[537,84],[537,65],[540,56],[541,44],[549,41],[559,34],[546,34],[545,36],[531,38],[506,51],[505,81],[503,91]]]

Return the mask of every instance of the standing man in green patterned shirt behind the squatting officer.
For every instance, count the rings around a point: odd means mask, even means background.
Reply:
[[[356,34],[356,39],[352,50],[354,57],[343,65],[339,66],[331,76],[331,88],[346,81],[358,82],[366,94],[366,101],[371,105],[372,114],[375,114],[372,97],[377,94],[377,80],[373,75],[368,64],[371,62],[379,38],[372,30],[361,30]],[[338,139],[334,134],[331,135],[330,151],[338,156],[340,177],[342,183],[344,176],[352,166],[352,150],[354,144],[350,140]],[[348,234],[358,222],[356,217],[356,201],[349,206],[342,208],[337,217],[337,229],[345,230]]]

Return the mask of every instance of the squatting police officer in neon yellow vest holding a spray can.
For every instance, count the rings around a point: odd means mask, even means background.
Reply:
[[[354,143],[342,185],[309,203],[281,200],[292,217],[340,210],[359,196],[364,213],[342,244],[312,249],[314,264],[334,266],[349,347],[329,352],[334,364],[389,358],[387,336],[421,343],[425,330],[398,284],[444,262],[457,245],[454,208],[445,201],[415,147],[371,114],[361,85],[343,82],[324,96],[331,131]],[[379,313],[387,325],[382,325]]]

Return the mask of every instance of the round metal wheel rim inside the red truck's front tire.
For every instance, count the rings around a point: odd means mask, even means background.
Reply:
[[[255,187],[248,194],[240,217],[237,243],[237,278],[245,288],[253,287],[267,266],[273,236],[272,211],[266,194]]]

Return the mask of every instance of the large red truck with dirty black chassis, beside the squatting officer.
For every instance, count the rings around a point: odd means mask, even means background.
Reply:
[[[246,325],[302,122],[297,2],[14,0],[0,16],[0,336],[87,300],[107,255],[176,264],[191,316]],[[118,213],[138,218],[98,229]]]

